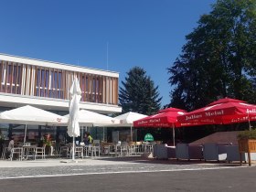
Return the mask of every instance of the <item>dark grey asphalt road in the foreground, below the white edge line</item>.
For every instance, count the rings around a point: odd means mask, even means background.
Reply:
[[[0,181],[2,192],[246,191],[254,192],[256,167],[15,178]]]

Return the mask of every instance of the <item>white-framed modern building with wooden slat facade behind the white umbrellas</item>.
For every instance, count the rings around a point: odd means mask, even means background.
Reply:
[[[99,113],[122,112],[118,106],[117,72],[5,54],[0,54],[0,112],[29,104],[67,114],[69,88],[75,76],[80,80],[82,91],[80,109]],[[22,135],[23,126],[2,123],[0,130],[5,135],[7,132]],[[37,129],[39,132],[33,131]],[[28,137],[36,140],[42,133],[49,132],[46,129],[31,125]],[[54,137],[59,137],[59,133],[54,133]]]

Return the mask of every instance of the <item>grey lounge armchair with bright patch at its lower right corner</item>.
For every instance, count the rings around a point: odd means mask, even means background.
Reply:
[[[204,144],[203,154],[205,161],[225,161],[227,158],[225,145],[227,144]]]

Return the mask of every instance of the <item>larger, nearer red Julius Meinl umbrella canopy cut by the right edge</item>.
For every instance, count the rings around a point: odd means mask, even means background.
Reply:
[[[187,112],[177,120],[182,126],[256,121],[256,105],[225,98],[211,102],[204,108]]]

